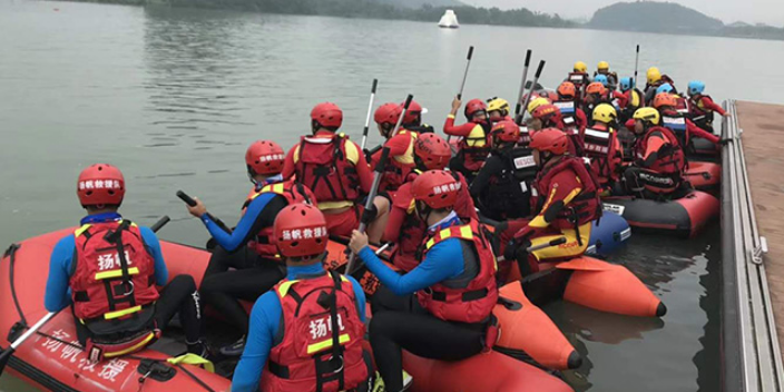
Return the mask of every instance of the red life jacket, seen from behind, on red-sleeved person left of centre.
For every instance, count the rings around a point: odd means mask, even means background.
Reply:
[[[296,178],[313,190],[318,202],[354,202],[360,197],[360,176],[356,166],[346,157],[346,143],[347,137],[343,134],[303,136],[300,141]]]

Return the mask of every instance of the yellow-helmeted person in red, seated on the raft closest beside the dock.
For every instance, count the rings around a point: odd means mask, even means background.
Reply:
[[[635,164],[624,173],[629,195],[647,199],[680,198],[690,192],[684,182],[686,156],[672,130],[659,126],[659,112],[640,108],[634,115]]]

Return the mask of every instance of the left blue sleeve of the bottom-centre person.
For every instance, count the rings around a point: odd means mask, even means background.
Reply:
[[[264,364],[267,362],[275,334],[281,327],[283,308],[277,294],[266,292],[258,297],[251,311],[251,325],[245,340],[245,351],[232,380],[232,391],[258,391]]]

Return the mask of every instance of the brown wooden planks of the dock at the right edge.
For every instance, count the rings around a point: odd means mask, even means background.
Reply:
[[[768,244],[765,271],[778,341],[784,342],[784,106],[738,101],[737,117],[757,225]]]

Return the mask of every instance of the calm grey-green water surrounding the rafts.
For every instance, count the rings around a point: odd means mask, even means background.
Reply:
[[[343,130],[359,139],[374,77],[378,102],[412,92],[438,125],[469,45],[465,96],[513,99],[526,48],[548,61],[542,82],[555,86],[576,59],[630,74],[636,43],[641,72],[656,60],[678,87],[700,78],[716,99],[782,101],[784,43],[774,41],[0,0],[0,244],[75,225],[74,183],[95,161],[125,171],[127,216],[169,215],[164,238],[203,244],[175,190],[236,217],[247,144],[288,148],[317,101],[341,105]],[[614,257],[664,298],[664,321],[547,310],[588,355],[566,374],[577,390],[717,390],[717,233],[637,236]]]

